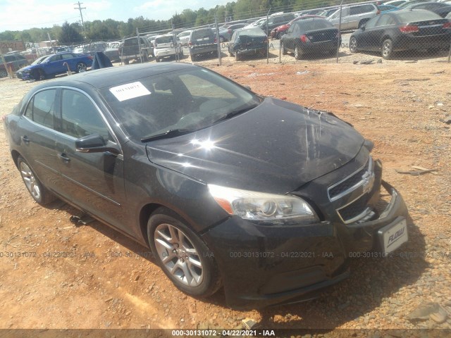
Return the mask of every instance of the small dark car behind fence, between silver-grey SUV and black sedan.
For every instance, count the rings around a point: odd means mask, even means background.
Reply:
[[[261,28],[242,28],[235,30],[228,44],[230,56],[239,61],[245,55],[266,56],[268,50],[268,37]]]

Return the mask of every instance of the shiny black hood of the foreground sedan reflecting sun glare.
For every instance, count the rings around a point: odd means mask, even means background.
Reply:
[[[204,130],[148,142],[147,156],[209,184],[285,194],[345,165],[363,143],[333,115],[266,98]]]

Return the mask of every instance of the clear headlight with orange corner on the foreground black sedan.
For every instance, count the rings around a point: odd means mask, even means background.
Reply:
[[[265,194],[208,184],[215,201],[230,215],[276,224],[309,224],[319,221],[306,201],[297,196]]]

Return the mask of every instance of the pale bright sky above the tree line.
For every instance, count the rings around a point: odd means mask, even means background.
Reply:
[[[80,0],[84,21],[128,18],[168,20],[185,8],[193,11],[225,5],[232,0]],[[53,27],[81,20],[78,0],[0,0],[0,32]],[[77,9],[74,9],[77,8]]]

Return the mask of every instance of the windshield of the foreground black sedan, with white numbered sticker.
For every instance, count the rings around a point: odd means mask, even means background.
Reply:
[[[123,96],[124,88],[133,89]],[[135,142],[169,130],[204,129],[262,101],[260,96],[204,68],[143,77],[99,92]]]

